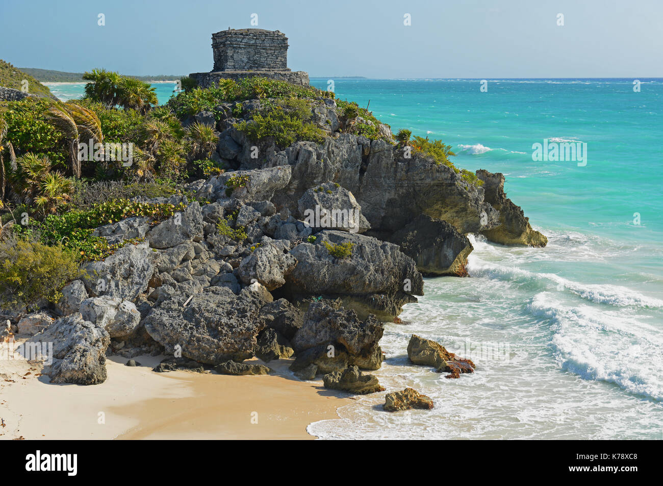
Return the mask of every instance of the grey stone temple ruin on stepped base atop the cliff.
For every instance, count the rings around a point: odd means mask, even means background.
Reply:
[[[288,69],[288,38],[279,31],[230,29],[211,35],[214,67],[193,72],[198,86],[208,88],[221,78],[263,76],[308,86],[308,73]]]

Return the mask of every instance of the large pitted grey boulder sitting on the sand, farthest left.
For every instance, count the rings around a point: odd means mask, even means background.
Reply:
[[[103,327],[85,321],[79,312],[60,317],[43,333],[30,338],[18,352],[25,357],[30,347],[52,345],[48,376],[52,383],[99,384],[106,380],[106,349],[110,337]]]

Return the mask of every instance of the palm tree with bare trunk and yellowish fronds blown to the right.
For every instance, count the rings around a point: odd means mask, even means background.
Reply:
[[[101,122],[97,114],[88,108],[67,102],[56,104],[46,112],[46,120],[57,127],[69,141],[69,161],[72,175],[81,177],[81,161],[78,145],[81,140],[103,143]]]

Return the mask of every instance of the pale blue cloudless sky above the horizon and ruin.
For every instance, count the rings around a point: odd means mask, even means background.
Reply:
[[[288,36],[289,67],[311,76],[663,77],[661,0],[1,2],[0,58],[19,67],[209,71],[211,33],[252,27],[257,13],[257,27]]]

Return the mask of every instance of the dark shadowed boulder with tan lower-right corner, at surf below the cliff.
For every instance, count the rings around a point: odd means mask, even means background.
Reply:
[[[416,262],[424,275],[466,276],[467,255],[473,250],[467,236],[451,224],[420,214],[391,235],[389,241]]]

